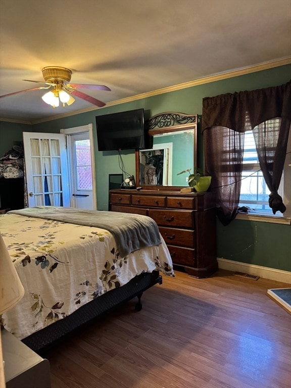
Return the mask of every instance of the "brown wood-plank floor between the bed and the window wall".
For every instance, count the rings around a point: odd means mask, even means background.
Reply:
[[[291,316],[266,295],[288,285],[175,273],[51,349],[52,388],[290,388]]]

